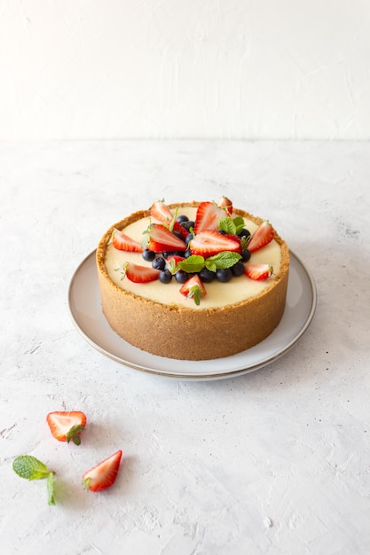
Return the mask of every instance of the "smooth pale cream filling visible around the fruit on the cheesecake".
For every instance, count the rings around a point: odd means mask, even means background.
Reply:
[[[196,208],[184,207],[180,209],[181,214],[187,215],[189,219],[193,220],[196,213]],[[180,212],[179,212],[180,214]],[[245,227],[253,233],[257,225],[256,223],[244,219]],[[137,222],[130,223],[122,231],[129,235],[131,238],[142,243],[148,225],[153,223],[152,218],[142,218]],[[192,299],[186,299],[179,290],[181,284],[177,283],[175,277],[172,278],[169,284],[162,284],[159,280],[152,281],[146,284],[136,284],[131,282],[127,277],[122,279],[122,265],[124,262],[135,262],[141,266],[152,266],[152,262],[146,262],[141,253],[128,253],[119,251],[112,244],[106,248],[106,271],[115,285],[118,285],[126,291],[135,293],[136,295],[151,301],[157,301],[169,306],[181,306],[188,309],[219,309],[240,301],[251,299],[256,295],[262,293],[264,289],[270,288],[272,282],[279,275],[281,264],[281,251],[279,244],[272,239],[269,245],[253,253],[250,261],[252,263],[266,263],[271,264],[273,268],[272,277],[265,281],[254,281],[245,275],[240,277],[232,277],[231,281],[227,283],[220,283],[214,279],[210,284],[205,284],[207,295],[201,298],[200,306],[197,306]]]

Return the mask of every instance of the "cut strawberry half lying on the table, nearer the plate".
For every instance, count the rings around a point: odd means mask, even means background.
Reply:
[[[46,420],[56,440],[68,443],[72,440],[80,445],[80,434],[86,426],[86,416],[81,410],[49,412]]]

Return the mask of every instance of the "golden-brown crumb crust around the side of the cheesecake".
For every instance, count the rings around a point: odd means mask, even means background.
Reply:
[[[193,201],[169,205],[169,208],[198,205],[199,202]],[[242,215],[257,225],[263,222],[237,208],[233,214]],[[284,313],[289,270],[288,247],[276,231],[274,239],[280,246],[281,264],[270,286],[245,301],[222,308],[194,310],[161,304],[125,291],[114,284],[106,271],[106,247],[114,228],[122,230],[148,215],[148,210],[140,210],[115,223],[98,244],[96,261],[102,309],[114,332],[153,355],[181,360],[231,356],[254,347],[273,332]]]

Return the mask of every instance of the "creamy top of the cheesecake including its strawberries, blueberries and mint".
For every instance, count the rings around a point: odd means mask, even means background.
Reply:
[[[169,304],[208,308],[213,302],[227,304],[229,297],[238,301],[235,277],[240,277],[241,298],[248,298],[279,273],[280,249],[272,225],[253,216],[246,219],[230,199],[179,207],[160,200],[140,214],[145,217],[117,224],[107,246],[108,274],[122,289],[154,300],[158,294],[158,301]],[[176,287],[175,301],[170,295],[167,300],[167,284],[168,290]],[[216,284],[225,284],[221,295]]]

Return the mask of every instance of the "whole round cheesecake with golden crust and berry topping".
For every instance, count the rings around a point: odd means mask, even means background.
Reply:
[[[96,257],[108,324],[153,355],[232,356],[266,339],[284,313],[287,244],[225,197],[154,202],[109,228]]]

